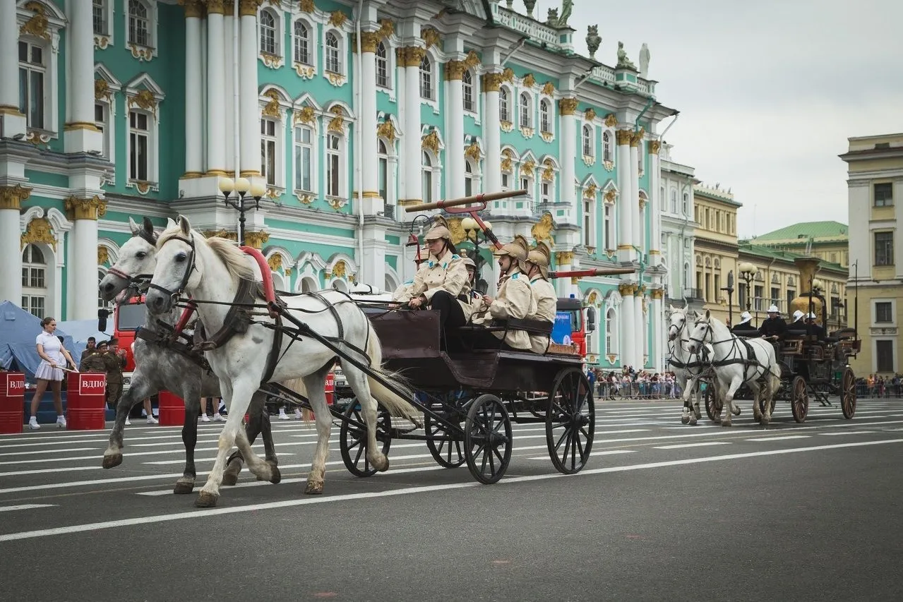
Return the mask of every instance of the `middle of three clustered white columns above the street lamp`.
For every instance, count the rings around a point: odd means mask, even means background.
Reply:
[[[226,105],[222,95],[226,89],[226,58],[223,55],[224,23],[221,3],[207,7],[207,173],[226,174]],[[219,12],[218,12],[219,11]],[[257,149],[257,153],[260,150]]]

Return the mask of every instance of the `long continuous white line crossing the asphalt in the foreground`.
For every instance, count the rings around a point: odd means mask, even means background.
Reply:
[[[888,443],[903,443],[903,439],[889,439],[880,441],[861,441],[856,443],[839,443],[836,445],[817,445],[810,448],[794,448],[794,449],[768,449],[765,451],[756,451],[750,453],[729,454],[725,456],[710,456],[707,458],[681,458],[676,460],[666,460],[664,462],[649,462],[646,464],[634,464],[628,466],[606,467],[606,468],[589,468],[584,469],[576,475],[563,475],[561,473],[552,473],[547,475],[533,475],[529,477],[510,477],[503,478],[498,482],[497,486],[516,485],[518,483],[527,483],[531,481],[544,481],[561,477],[588,477],[592,475],[600,475],[610,472],[627,472],[632,470],[646,470],[651,468],[667,468],[674,466],[684,466],[687,464],[702,464],[703,462],[718,462],[740,458],[758,458],[761,456],[776,456],[781,454],[802,453],[806,451],[824,451],[828,449],[842,449],[852,447],[863,447],[871,445],[884,445]],[[104,529],[113,529],[116,527],[134,526],[138,524],[165,523],[169,521],[179,521],[192,518],[209,518],[223,514],[238,514],[260,510],[271,510],[275,508],[289,508],[300,505],[314,504],[337,504],[359,499],[368,499],[375,497],[393,497],[396,495],[413,495],[421,493],[431,493],[434,491],[449,491],[453,489],[465,489],[481,486],[476,482],[468,483],[450,483],[446,485],[431,486],[414,486],[404,487],[401,489],[392,489],[389,491],[372,491],[357,494],[345,495],[317,495],[304,499],[283,500],[280,502],[267,502],[263,504],[240,505],[225,508],[208,508],[203,510],[193,510],[189,512],[174,514],[157,514],[154,516],[136,516],[135,518],[126,518],[117,521],[106,521],[102,523],[83,523],[72,524],[66,527],[54,527],[51,529],[38,529],[34,531],[23,531],[19,533],[5,533],[0,535],[0,542],[14,542],[24,539],[33,539],[36,537],[50,537],[53,535],[63,535],[68,533],[87,533],[92,531],[101,531]]]

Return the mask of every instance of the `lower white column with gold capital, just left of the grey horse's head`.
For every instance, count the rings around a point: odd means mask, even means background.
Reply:
[[[107,201],[70,197],[65,208],[75,222],[66,258],[72,292],[66,319],[90,320],[98,317],[98,214],[106,211]]]

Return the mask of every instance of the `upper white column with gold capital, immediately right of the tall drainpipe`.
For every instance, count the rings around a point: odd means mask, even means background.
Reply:
[[[361,183],[358,202],[363,203],[364,214],[373,216],[386,207],[386,199],[379,197],[379,174],[377,173],[377,32],[360,34],[360,156]],[[366,253],[366,250],[365,250]],[[385,250],[383,257],[385,258]],[[385,267],[381,266],[380,271]],[[375,276],[369,269],[363,270],[368,278]],[[370,282],[383,288],[384,280]]]

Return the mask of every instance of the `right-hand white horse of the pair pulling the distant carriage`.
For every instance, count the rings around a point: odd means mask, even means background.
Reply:
[[[734,336],[724,322],[712,318],[709,310],[704,316],[697,315],[687,348],[695,353],[706,343],[713,349],[712,366],[718,389],[723,392],[723,405],[733,411],[734,394],[741,384],[748,384],[753,394],[753,415],[767,425],[771,421],[771,400],[781,386],[774,347],[761,338]],[[731,426],[731,412],[725,413],[721,426]]]

